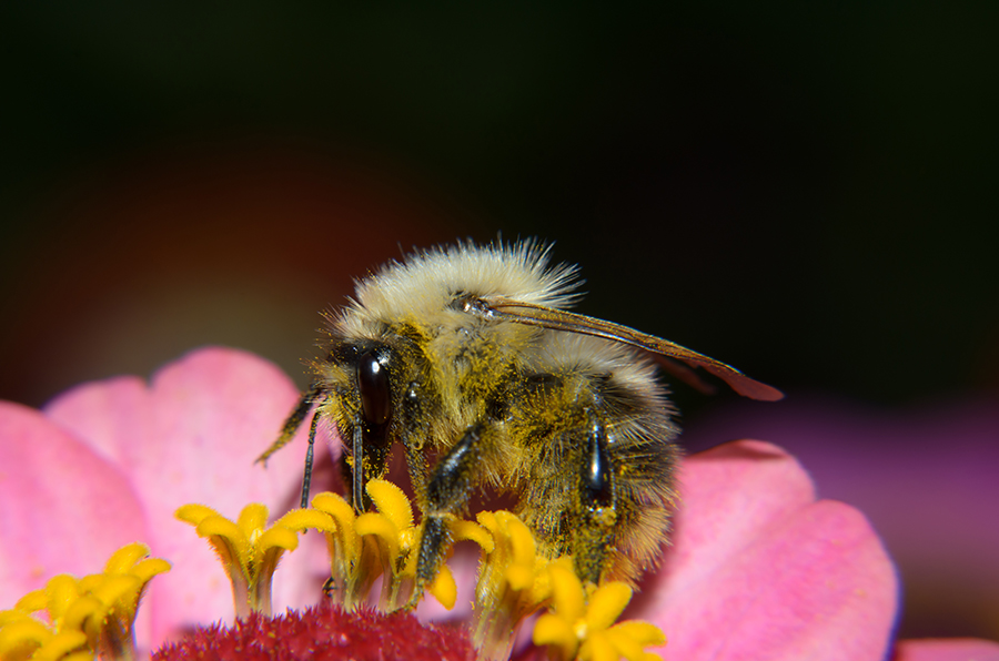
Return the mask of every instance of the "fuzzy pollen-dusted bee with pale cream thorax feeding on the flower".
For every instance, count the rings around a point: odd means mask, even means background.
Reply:
[[[265,460],[311,411],[306,507],[319,421],[342,439],[356,511],[366,480],[405,451],[422,513],[416,594],[451,546],[448,522],[478,487],[517,497],[548,557],[584,581],[634,581],[652,566],[676,499],[676,414],[657,365],[699,384],[703,368],[741,395],[783,397],[683,346],[567,308],[577,268],[533,241],[458,243],[391,262],[325,315],[325,357]]]

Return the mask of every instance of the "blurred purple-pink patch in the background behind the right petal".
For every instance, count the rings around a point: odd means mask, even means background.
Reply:
[[[999,637],[999,398],[879,408],[828,396],[740,401],[692,424],[685,443],[751,434],[791,452],[819,494],[859,508],[898,568],[901,631]]]

